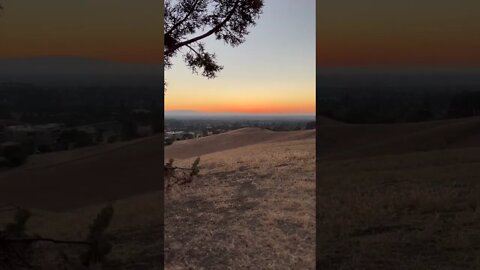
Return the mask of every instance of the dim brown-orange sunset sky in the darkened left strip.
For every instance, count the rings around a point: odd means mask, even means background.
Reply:
[[[162,63],[163,1],[2,1],[0,58],[80,56]]]

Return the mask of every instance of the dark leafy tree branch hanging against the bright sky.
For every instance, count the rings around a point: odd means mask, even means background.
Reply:
[[[179,52],[194,73],[215,78],[223,69],[203,40],[215,37],[235,47],[262,13],[263,0],[165,0],[164,57],[166,67]]]

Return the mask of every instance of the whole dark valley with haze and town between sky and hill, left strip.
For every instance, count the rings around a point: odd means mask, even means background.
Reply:
[[[162,132],[161,92],[152,87],[2,83],[0,90],[2,166]]]

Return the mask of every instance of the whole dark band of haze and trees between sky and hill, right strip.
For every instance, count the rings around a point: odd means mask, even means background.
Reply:
[[[347,123],[418,122],[480,114],[480,83],[466,75],[317,76],[317,111]]]

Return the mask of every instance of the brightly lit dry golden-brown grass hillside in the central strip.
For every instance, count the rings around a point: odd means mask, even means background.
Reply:
[[[200,176],[165,199],[166,269],[315,268],[314,131],[240,129],[165,155],[201,155]]]

